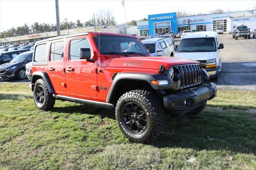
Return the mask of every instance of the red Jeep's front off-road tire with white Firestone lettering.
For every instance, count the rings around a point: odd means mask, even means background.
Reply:
[[[128,112],[123,116],[128,105],[138,104],[141,113],[146,117],[146,123],[142,132],[132,132],[125,124],[125,118],[128,119]],[[137,108],[136,108],[137,109]],[[127,111],[127,110],[126,110]],[[134,112],[132,113],[134,114]],[[138,114],[137,114],[138,115]],[[134,115],[133,115],[134,116]],[[139,115],[138,115],[139,116]],[[132,118],[131,118],[132,120]],[[146,143],[156,139],[162,132],[164,127],[164,111],[161,102],[157,97],[145,90],[132,90],[124,93],[116,104],[116,121],[120,130],[132,141]],[[132,126],[137,126],[132,124]],[[138,128],[139,129],[139,128]]]

